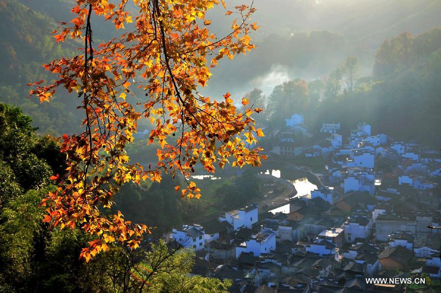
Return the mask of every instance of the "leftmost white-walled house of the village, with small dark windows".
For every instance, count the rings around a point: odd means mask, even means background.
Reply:
[[[193,251],[204,248],[204,234],[204,229],[200,225],[182,225],[182,229],[172,229],[173,240]]]

